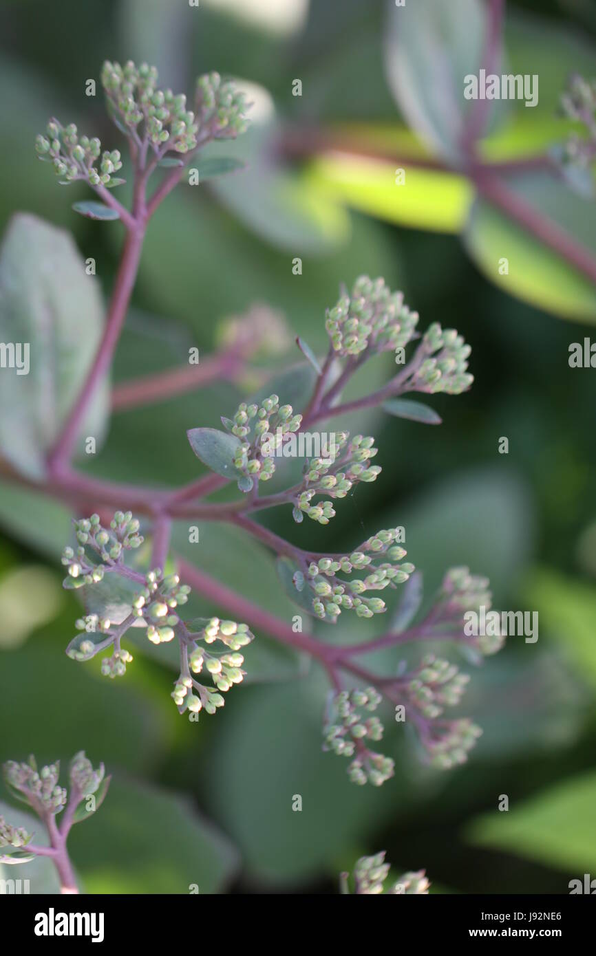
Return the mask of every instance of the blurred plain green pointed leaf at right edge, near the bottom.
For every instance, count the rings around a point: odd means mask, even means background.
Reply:
[[[466,836],[475,846],[554,866],[569,879],[596,871],[596,773],[571,777],[516,806],[473,820]],[[567,880],[562,893],[567,893]]]

